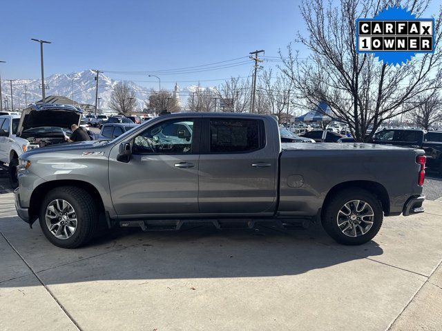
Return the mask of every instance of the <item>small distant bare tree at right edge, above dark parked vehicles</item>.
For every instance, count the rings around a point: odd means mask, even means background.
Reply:
[[[418,126],[428,130],[433,124],[442,121],[442,98],[439,94],[419,97],[419,106],[412,111]]]

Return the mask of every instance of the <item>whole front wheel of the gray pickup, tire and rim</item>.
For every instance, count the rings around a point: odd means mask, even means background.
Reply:
[[[62,186],[46,194],[39,213],[46,238],[61,248],[77,248],[93,238],[98,213],[93,197],[75,186]]]

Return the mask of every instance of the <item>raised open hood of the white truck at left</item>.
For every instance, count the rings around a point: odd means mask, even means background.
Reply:
[[[19,127],[17,128],[17,137],[20,137],[23,131],[31,128],[41,128],[43,126],[70,128],[73,124],[79,126],[80,119],[80,110],[56,107],[52,109],[28,108],[21,113]]]

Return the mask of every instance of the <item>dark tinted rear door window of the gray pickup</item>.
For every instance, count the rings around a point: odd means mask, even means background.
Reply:
[[[251,152],[265,145],[264,123],[258,119],[211,119],[210,152]]]

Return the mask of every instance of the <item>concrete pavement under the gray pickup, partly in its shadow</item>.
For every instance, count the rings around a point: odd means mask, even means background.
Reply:
[[[442,203],[425,208],[356,247],[265,225],[119,230],[63,250],[6,215],[0,330],[442,330]]]

